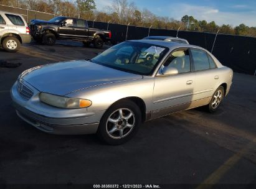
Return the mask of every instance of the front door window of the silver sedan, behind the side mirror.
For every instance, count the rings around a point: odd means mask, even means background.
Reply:
[[[176,68],[179,73],[186,73],[190,71],[190,57],[188,50],[178,50],[168,57],[163,67]]]

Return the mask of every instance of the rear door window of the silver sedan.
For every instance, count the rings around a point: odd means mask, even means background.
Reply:
[[[191,48],[192,58],[194,60],[195,71],[207,70],[210,68],[209,59],[206,52]]]

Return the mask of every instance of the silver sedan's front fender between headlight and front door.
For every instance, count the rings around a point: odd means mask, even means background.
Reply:
[[[146,105],[146,111],[151,111],[153,108],[153,88],[154,78],[144,76],[144,78],[141,79],[117,81],[85,88],[84,90],[70,93],[67,96],[89,99],[92,101],[92,106],[88,108],[88,111],[93,112],[106,110],[120,99],[138,97],[143,99]]]

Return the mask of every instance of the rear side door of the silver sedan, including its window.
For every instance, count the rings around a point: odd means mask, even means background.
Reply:
[[[196,73],[194,98],[209,98],[219,85],[216,64],[206,51],[198,48],[191,48],[191,57],[194,63],[194,73]]]

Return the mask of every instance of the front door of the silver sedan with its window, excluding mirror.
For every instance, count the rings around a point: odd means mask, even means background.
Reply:
[[[178,70],[177,75],[163,75],[164,67]],[[152,118],[158,118],[190,107],[195,74],[191,71],[191,57],[187,48],[172,52],[154,78]]]

